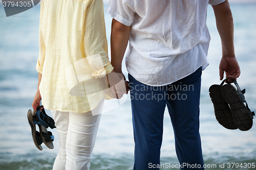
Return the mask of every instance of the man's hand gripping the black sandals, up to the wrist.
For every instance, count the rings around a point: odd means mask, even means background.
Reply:
[[[236,57],[223,56],[220,62],[220,80],[224,77],[224,71],[226,78],[231,83],[231,79],[237,79],[240,76],[240,67]]]

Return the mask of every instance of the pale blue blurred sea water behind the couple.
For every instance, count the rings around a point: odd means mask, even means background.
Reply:
[[[105,3],[104,7],[107,8]],[[234,45],[241,67],[240,87],[250,109],[256,111],[256,4],[231,4]],[[0,5],[0,169],[51,169],[59,145],[56,129],[53,150],[43,145],[39,151],[32,140],[27,111],[37,88],[35,64],[38,57],[39,5],[6,17]],[[106,34],[110,42],[112,18],[105,13]],[[208,88],[220,84],[221,41],[212,8],[208,8],[211,42],[209,66],[202,74],[200,133],[206,169],[256,169],[256,126],[249,131],[227,130],[215,119]],[[125,65],[123,72],[127,76]],[[102,114],[91,160],[91,169],[133,169],[134,141],[129,95],[124,103]],[[51,116],[49,110],[47,113]],[[255,122],[255,121],[254,121]],[[166,111],[161,149],[161,169],[178,169],[173,128]],[[239,165],[239,166],[237,166]],[[247,166],[245,166],[247,165]],[[250,167],[250,168],[248,168]]]

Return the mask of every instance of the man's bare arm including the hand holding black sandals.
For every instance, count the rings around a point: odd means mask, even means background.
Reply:
[[[220,62],[220,80],[224,77],[237,79],[240,76],[240,67],[234,54],[233,17],[229,3],[225,2],[212,6],[216,17],[216,25],[221,37],[222,59]],[[229,80],[231,82],[231,80]]]

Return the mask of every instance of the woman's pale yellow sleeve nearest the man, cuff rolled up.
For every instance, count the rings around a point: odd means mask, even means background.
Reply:
[[[108,57],[102,0],[92,1],[88,7],[83,27],[83,45],[87,60],[94,69],[93,77],[102,78],[114,69]]]

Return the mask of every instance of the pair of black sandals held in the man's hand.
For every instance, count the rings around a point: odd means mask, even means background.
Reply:
[[[237,89],[228,82],[228,79],[225,79],[220,85],[215,84],[209,88],[215,116],[224,128],[248,131],[252,127],[252,119],[255,114],[250,111],[245,101],[245,89],[241,90],[237,81],[232,81]],[[224,82],[227,84],[223,85]]]

